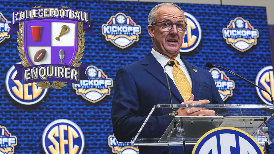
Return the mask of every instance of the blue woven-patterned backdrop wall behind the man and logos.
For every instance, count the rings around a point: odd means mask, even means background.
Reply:
[[[158,3],[131,1],[45,1],[1,0],[0,12],[11,21],[11,14],[33,6],[42,7],[68,6],[74,9],[89,11],[95,35],[85,34],[85,50],[81,59],[83,64],[94,65],[102,69],[115,83],[118,68],[144,57],[152,48],[152,41],[147,33],[147,16],[152,7]],[[202,5],[176,3],[192,14],[202,28],[202,40],[196,50],[181,53],[186,60],[201,68],[207,69],[205,63],[225,66],[239,75],[255,82],[259,70],[271,65],[269,34],[265,7]],[[112,15],[122,12],[142,27],[139,41],[120,49],[114,46],[101,33],[101,25]],[[226,44],[222,29],[235,17],[243,17],[258,29],[257,45],[245,52],[240,52]],[[111,100],[109,96],[97,103],[91,103],[75,94],[71,84],[61,90],[50,88],[45,99],[32,106],[23,106],[15,102],[5,88],[5,76],[9,68],[21,61],[17,50],[17,35],[4,40],[0,44],[0,85],[1,113],[0,125],[7,127],[12,135],[17,136],[18,144],[15,153],[44,153],[41,148],[41,137],[45,127],[56,119],[70,119],[80,126],[85,137],[84,153],[112,153],[108,147],[108,136],[112,135]],[[256,94],[255,88],[226,72],[235,81],[233,96],[226,104],[263,104]],[[273,145],[270,145],[273,153]]]

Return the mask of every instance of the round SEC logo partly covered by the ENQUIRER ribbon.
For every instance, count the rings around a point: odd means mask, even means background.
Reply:
[[[20,64],[20,62],[17,64]],[[45,97],[48,89],[41,89],[35,83],[23,84],[22,81],[13,80],[16,74],[15,67],[11,66],[5,80],[7,92],[16,102],[24,105],[32,105],[40,102]]]

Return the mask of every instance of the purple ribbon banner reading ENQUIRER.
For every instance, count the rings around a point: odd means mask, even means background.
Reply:
[[[17,74],[13,80],[22,80],[23,84],[41,81],[64,81],[79,84],[80,80],[88,80],[85,74],[88,64],[73,67],[61,64],[42,64],[23,67],[14,64]]]

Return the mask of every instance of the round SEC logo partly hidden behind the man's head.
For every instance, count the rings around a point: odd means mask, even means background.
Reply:
[[[190,52],[194,50],[201,42],[202,29],[198,20],[190,13],[185,12],[186,16],[186,35],[180,52]]]

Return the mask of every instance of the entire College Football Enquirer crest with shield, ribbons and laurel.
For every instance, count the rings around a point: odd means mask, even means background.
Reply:
[[[14,80],[61,89],[67,82],[78,84],[87,79],[83,75],[87,65],[79,61],[85,48],[84,29],[93,33],[90,13],[64,6],[38,6],[13,12],[12,17],[10,32],[19,27],[18,50],[23,60],[15,65],[18,73]]]

